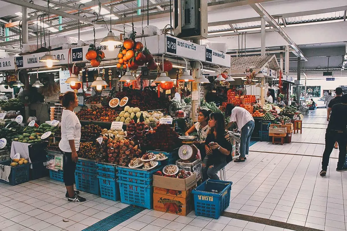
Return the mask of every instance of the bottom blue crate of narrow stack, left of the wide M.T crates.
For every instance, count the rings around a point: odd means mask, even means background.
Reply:
[[[112,201],[119,201],[119,184],[115,178],[98,176],[100,185],[100,194],[102,198]]]

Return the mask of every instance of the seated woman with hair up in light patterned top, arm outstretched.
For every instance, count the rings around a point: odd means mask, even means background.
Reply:
[[[185,133],[185,135],[189,135],[193,132],[197,132],[197,141],[195,142],[195,145],[200,150],[201,160],[206,156],[205,140],[207,133],[210,130],[208,122],[211,112],[211,110],[200,109],[199,115],[197,116],[197,122]]]

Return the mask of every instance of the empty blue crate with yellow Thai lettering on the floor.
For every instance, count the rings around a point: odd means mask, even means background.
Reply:
[[[231,185],[231,181],[208,179],[193,189],[195,215],[218,219],[229,206]]]

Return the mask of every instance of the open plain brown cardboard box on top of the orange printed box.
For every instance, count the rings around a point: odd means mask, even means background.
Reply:
[[[185,179],[163,177],[153,175],[153,186],[159,188],[168,188],[179,191],[187,191],[196,185],[196,174],[189,176]]]

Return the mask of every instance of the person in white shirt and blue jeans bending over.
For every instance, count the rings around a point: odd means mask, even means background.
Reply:
[[[227,104],[225,116],[230,116],[230,123],[236,122],[238,130],[241,132],[240,157],[235,159],[234,162],[245,162],[254,130],[254,119],[245,108],[235,107],[232,104]]]

